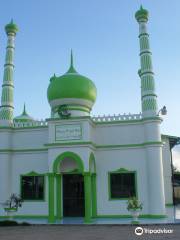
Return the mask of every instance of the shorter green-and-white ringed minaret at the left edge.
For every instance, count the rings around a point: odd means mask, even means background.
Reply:
[[[13,23],[13,20],[5,26],[5,31],[8,37],[6,58],[4,64],[4,77],[2,84],[2,96],[0,106],[0,126],[10,126],[13,123],[13,92],[14,92],[14,39],[18,31],[18,27]]]

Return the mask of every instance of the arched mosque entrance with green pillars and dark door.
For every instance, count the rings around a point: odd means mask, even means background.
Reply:
[[[91,177],[92,174],[89,170],[87,172],[84,171],[83,161],[76,153],[64,152],[55,159],[53,163],[53,172],[48,173],[49,222],[53,223],[56,219],[62,219],[64,214],[65,216],[84,216],[84,221],[86,223],[91,222]],[[66,189],[69,188],[70,190],[72,190],[72,188],[76,188],[76,196],[71,196],[71,198],[74,198],[74,201],[78,202],[78,205],[80,205],[77,212],[73,212],[73,206],[75,206],[73,203],[71,203],[72,206],[70,207],[66,206],[65,202],[67,202],[69,192],[64,192],[63,187]],[[63,194],[66,196],[65,198]],[[66,208],[71,210],[66,211]]]

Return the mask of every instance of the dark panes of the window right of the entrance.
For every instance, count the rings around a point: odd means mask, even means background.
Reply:
[[[136,197],[135,172],[110,173],[110,199]]]

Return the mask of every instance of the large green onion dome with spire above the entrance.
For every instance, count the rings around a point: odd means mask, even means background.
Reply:
[[[90,111],[96,101],[97,90],[94,83],[87,77],[76,72],[73,66],[71,52],[71,65],[62,76],[55,75],[50,79],[47,90],[48,101],[54,112],[66,105],[69,110],[80,108]]]

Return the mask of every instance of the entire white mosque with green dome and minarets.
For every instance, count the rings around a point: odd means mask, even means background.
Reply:
[[[127,199],[143,203],[142,218],[166,218],[173,205],[172,148],[180,138],[163,135],[152,69],[148,11],[140,8],[141,112],[91,116],[97,89],[80,75],[73,55],[68,71],[52,76],[47,89],[51,114],[34,120],[24,106],[14,117],[14,40],[18,27],[5,26],[7,48],[0,106],[0,203],[12,193],[23,199],[14,217],[126,218]],[[0,217],[6,213],[0,206]]]

